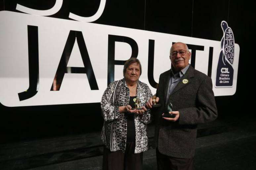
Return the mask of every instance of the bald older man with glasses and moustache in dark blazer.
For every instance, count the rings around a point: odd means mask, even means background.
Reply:
[[[161,107],[155,112],[157,169],[186,169],[193,166],[197,125],[217,118],[212,80],[189,64],[191,52],[185,43],[175,43],[170,49],[171,69],[159,77],[156,91]],[[164,116],[172,103],[175,117]],[[152,107],[152,99],[146,104]],[[167,113],[168,114],[168,113]]]

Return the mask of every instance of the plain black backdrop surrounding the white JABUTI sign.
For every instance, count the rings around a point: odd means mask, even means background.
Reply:
[[[17,3],[46,10],[52,0],[0,0],[0,11],[16,11]],[[49,17],[68,18],[69,12],[91,16],[99,0],[64,0],[60,11]],[[216,97],[219,117],[255,119],[255,4],[235,0],[107,0],[102,16],[94,23],[220,41],[221,21],[232,28],[240,46],[237,89],[233,96]],[[15,47],[14,47],[15,48]],[[0,53],[1,55],[1,53]],[[4,57],[4,56],[1,56]],[[168,56],[166,56],[168,57]],[[0,143],[34,140],[100,131],[100,103],[6,107],[0,104]]]

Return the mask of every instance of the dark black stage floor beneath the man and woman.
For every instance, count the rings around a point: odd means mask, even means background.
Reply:
[[[222,117],[200,125],[194,157],[195,170],[255,170],[256,125],[247,117]],[[149,126],[149,141],[153,138]],[[0,169],[101,169],[100,132],[0,145]],[[143,169],[156,169],[155,150],[144,153]]]

